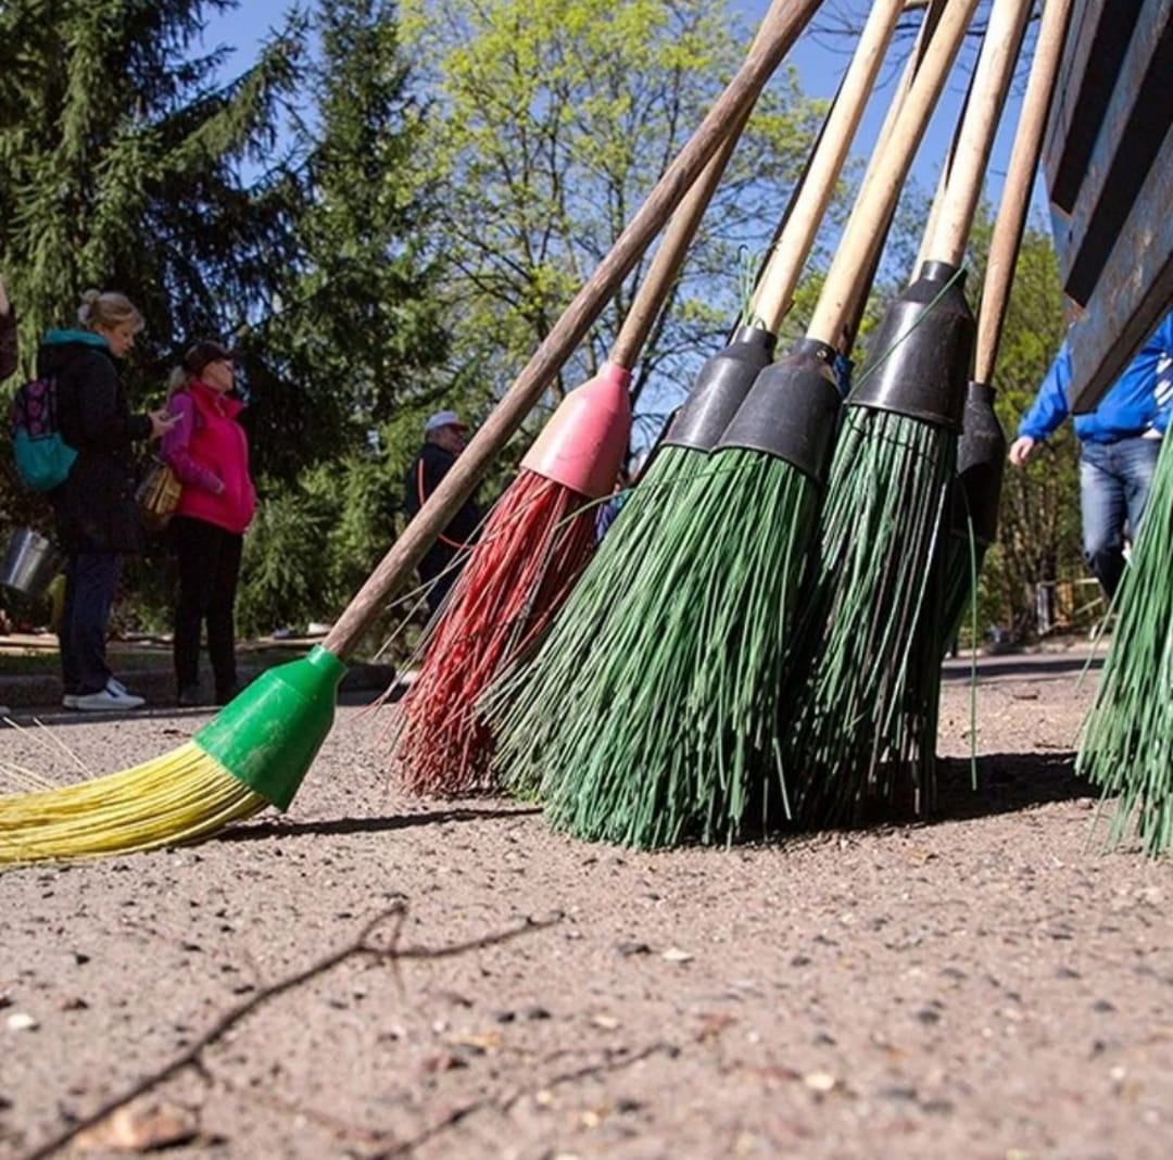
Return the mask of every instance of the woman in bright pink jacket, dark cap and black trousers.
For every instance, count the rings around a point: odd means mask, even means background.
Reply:
[[[164,437],[162,454],[183,484],[171,520],[179,561],[174,656],[181,705],[201,704],[204,622],[216,704],[224,705],[238,691],[232,610],[244,530],[257,495],[249,476],[249,440],[237,422],[244,403],[229,394],[233,358],[219,342],[197,342],[171,373],[170,412],[178,422]]]

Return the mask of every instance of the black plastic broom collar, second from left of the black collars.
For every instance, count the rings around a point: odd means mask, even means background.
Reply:
[[[840,394],[832,369],[835,351],[818,339],[758,375],[717,445],[785,460],[822,487],[839,420]]]

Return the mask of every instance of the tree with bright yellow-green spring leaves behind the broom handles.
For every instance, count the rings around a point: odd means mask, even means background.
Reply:
[[[750,34],[705,0],[404,0],[402,27],[436,94],[421,179],[445,191],[433,229],[453,265],[449,369],[459,398],[483,408],[700,123]],[[737,318],[745,253],[765,249],[820,113],[793,72],[775,79],[651,335],[637,392],[670,384],[674,403]],[[550,384],[554,401],[605,358],[645,270]]]

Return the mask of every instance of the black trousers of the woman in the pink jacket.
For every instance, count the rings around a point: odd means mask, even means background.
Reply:
[[[236,691],[236,582],[244,536],[203,520],[176,516],[171,535],[179,561],[175,605],[175,678],[179,688],[199,684],[199,630],[208,624],[208,656],[217,699]]]

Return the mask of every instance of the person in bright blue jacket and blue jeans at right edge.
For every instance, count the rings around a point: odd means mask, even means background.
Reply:
[[[1010,447],[1022,467],[1070,413],[1071,353],[1064,342]],[[1076,415],[1084,558],[1111,599],[1125,569],[1125,529],[1137,538],[1173,401],[1169,313],[1094,411]]]

